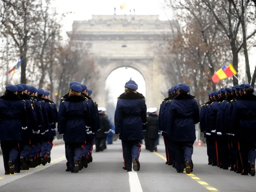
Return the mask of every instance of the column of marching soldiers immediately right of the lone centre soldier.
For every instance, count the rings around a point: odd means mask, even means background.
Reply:
[[[199,123],[196,98],[188,94],[187,84],[168,90],[168,97],[160,104],[158,125],[164,138],[166,164],[178,173],[193,172],[193,144],[196,140],[195,124]]]

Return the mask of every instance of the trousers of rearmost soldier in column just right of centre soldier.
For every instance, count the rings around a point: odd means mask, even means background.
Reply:
[[[191,163],[194,141],[173,141],[176,169],[184,169],[184,161]]]

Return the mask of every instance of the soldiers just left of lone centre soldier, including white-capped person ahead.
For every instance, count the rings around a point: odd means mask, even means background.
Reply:
[[[96,152],[106,148],[106,137],[111,128],[105,111],[106,108],[98,108],[92,100],[92,90],[86,85],[70,83],[58,112],[58,132],[65,141],[67,172],[79,172],[92,162],[94,137]]]

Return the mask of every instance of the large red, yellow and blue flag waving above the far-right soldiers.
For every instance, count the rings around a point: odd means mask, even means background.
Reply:
[[[216,83],[220,80],[226,79],[228,77],[231,77],[233,75],[236,75],[236,69],[233,67],[233,65],[230,63],[228,66],[223,66],[220,68],[213,76],[212,76],[212,82]]]

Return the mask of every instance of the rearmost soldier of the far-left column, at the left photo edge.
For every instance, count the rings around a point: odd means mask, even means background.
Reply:
[[[19,154],[21,131],[27,129],[25,101],[17,95],[18,87],[5,86],[0,97],[0,144],[4,159],[5,175],[14,174],[14,163]]]

